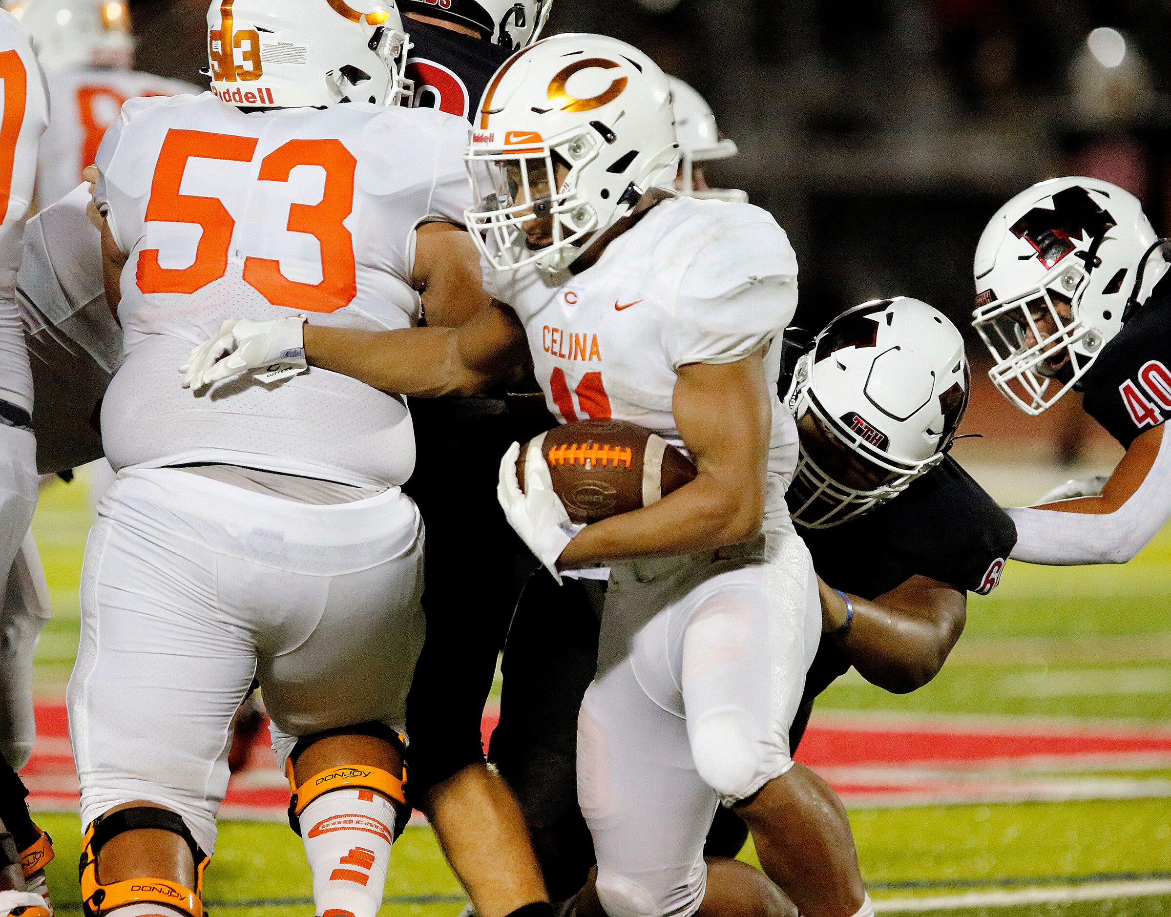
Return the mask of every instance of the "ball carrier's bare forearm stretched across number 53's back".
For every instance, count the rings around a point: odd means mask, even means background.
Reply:
[[[474,395],[492,378],[460,360],[458,336],[453,328],[363,331],[306,323],[304,353],[311,365],[392,395]]]

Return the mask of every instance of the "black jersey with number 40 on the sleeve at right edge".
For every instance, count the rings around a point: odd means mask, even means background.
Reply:
[[[1102,348],[1077,388],[1086,412],[1125,449],[1171,416],[1171,273]]]

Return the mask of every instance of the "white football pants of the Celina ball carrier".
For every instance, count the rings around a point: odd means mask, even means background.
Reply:
[[[786,773],[821,637],[787,520],[749,546],[612,568],[577,727],[577,796],[610,917],[687,917],[717,805]]]

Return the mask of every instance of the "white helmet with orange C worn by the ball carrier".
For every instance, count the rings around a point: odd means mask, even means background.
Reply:
[[[480,102],[467,227],[498,271],[563,271],[674,173],[676,148],[671,89],[650,57],[604,35],[545,39]],[[555,162],[568,170],[556,187]],[[552,244],[530,248],[525,224],[550,214]]]

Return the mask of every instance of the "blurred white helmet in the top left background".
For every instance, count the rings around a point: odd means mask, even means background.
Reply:
[[[33,36],[47,71],[133,66],[135,40],[124,0],[7,0],[4,6]]]

